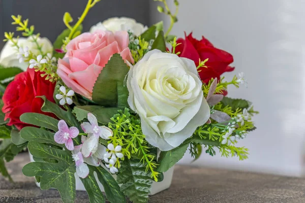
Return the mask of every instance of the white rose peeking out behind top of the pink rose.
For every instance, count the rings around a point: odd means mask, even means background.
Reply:
[[[132,18],[109,18],[103,22],[92,26],[90,32],[93,33],[97,30],[108,30],[108,31],[131,31],[135,36],[141,35],[144,31],[147,30],[147,26],[144,26],[142,23],[138,23],[135,19]]]

